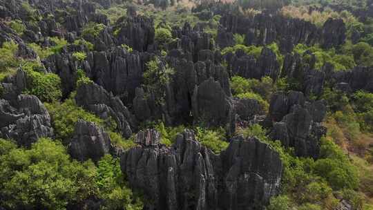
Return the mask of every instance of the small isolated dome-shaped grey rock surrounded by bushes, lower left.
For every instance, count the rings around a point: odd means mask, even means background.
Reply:
[[[111,139],[104,128],[82,120],[75,124],[73,139],[68,144],[71,157],[80,161],[91,159],[97,162],[111,152],[111,149]]]

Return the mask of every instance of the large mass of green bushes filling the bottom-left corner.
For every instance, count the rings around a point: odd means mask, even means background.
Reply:
[[[87,198],[102,200],[102,209],[142,209],[111,155],[96,167],[70,160],[65,147],[49,139],[31,149],[0,140],[0,160],[0,205],[7,209],[66,209]]]

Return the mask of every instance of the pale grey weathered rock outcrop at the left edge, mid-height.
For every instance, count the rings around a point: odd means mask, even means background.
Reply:
[[[46,107],[35,95],[19,95],[14,106],[0,99],[0,137],[30,146],[41,137],[53,137]]]

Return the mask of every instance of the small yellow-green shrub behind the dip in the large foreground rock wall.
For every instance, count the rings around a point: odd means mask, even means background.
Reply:
[[[223,128],[209,130],[207,128],[195,127],[194,131],[197,140],[216,154],[220,154],[229,146],[229,143],[226,142]]]

